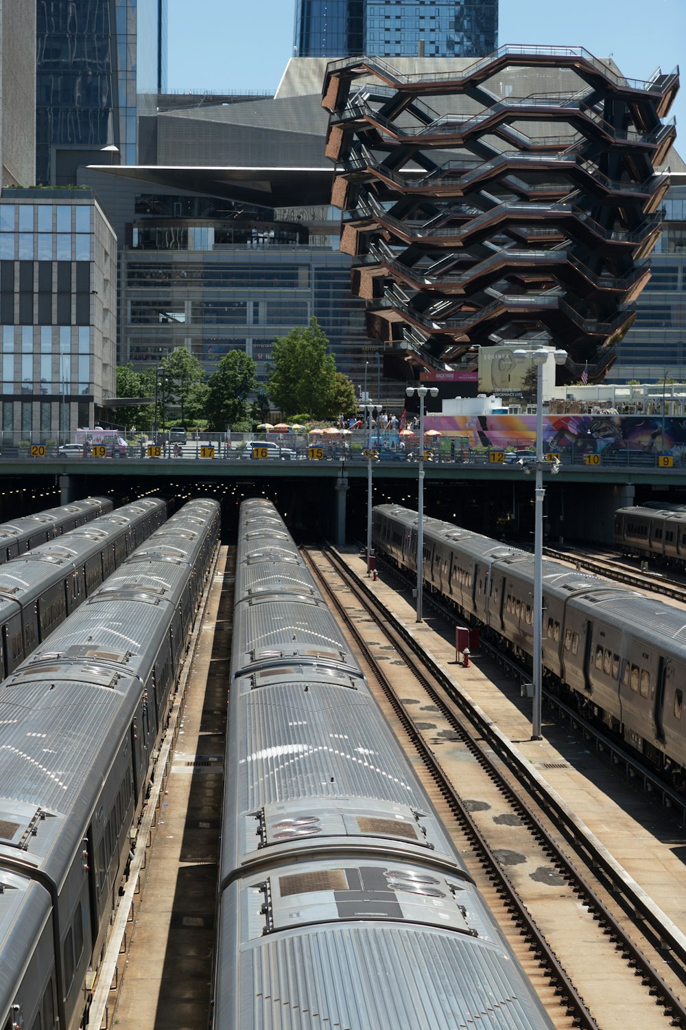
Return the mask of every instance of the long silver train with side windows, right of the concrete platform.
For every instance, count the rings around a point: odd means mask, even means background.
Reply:
[[[435,592],[503,651],[531,663],[534,556],[424,518],[424,573]],[[418,514],[372,510],[372,545],[417,575]],[[686,785],[686,630],[678,608],[591,573],[543,560],[543,681]]]

